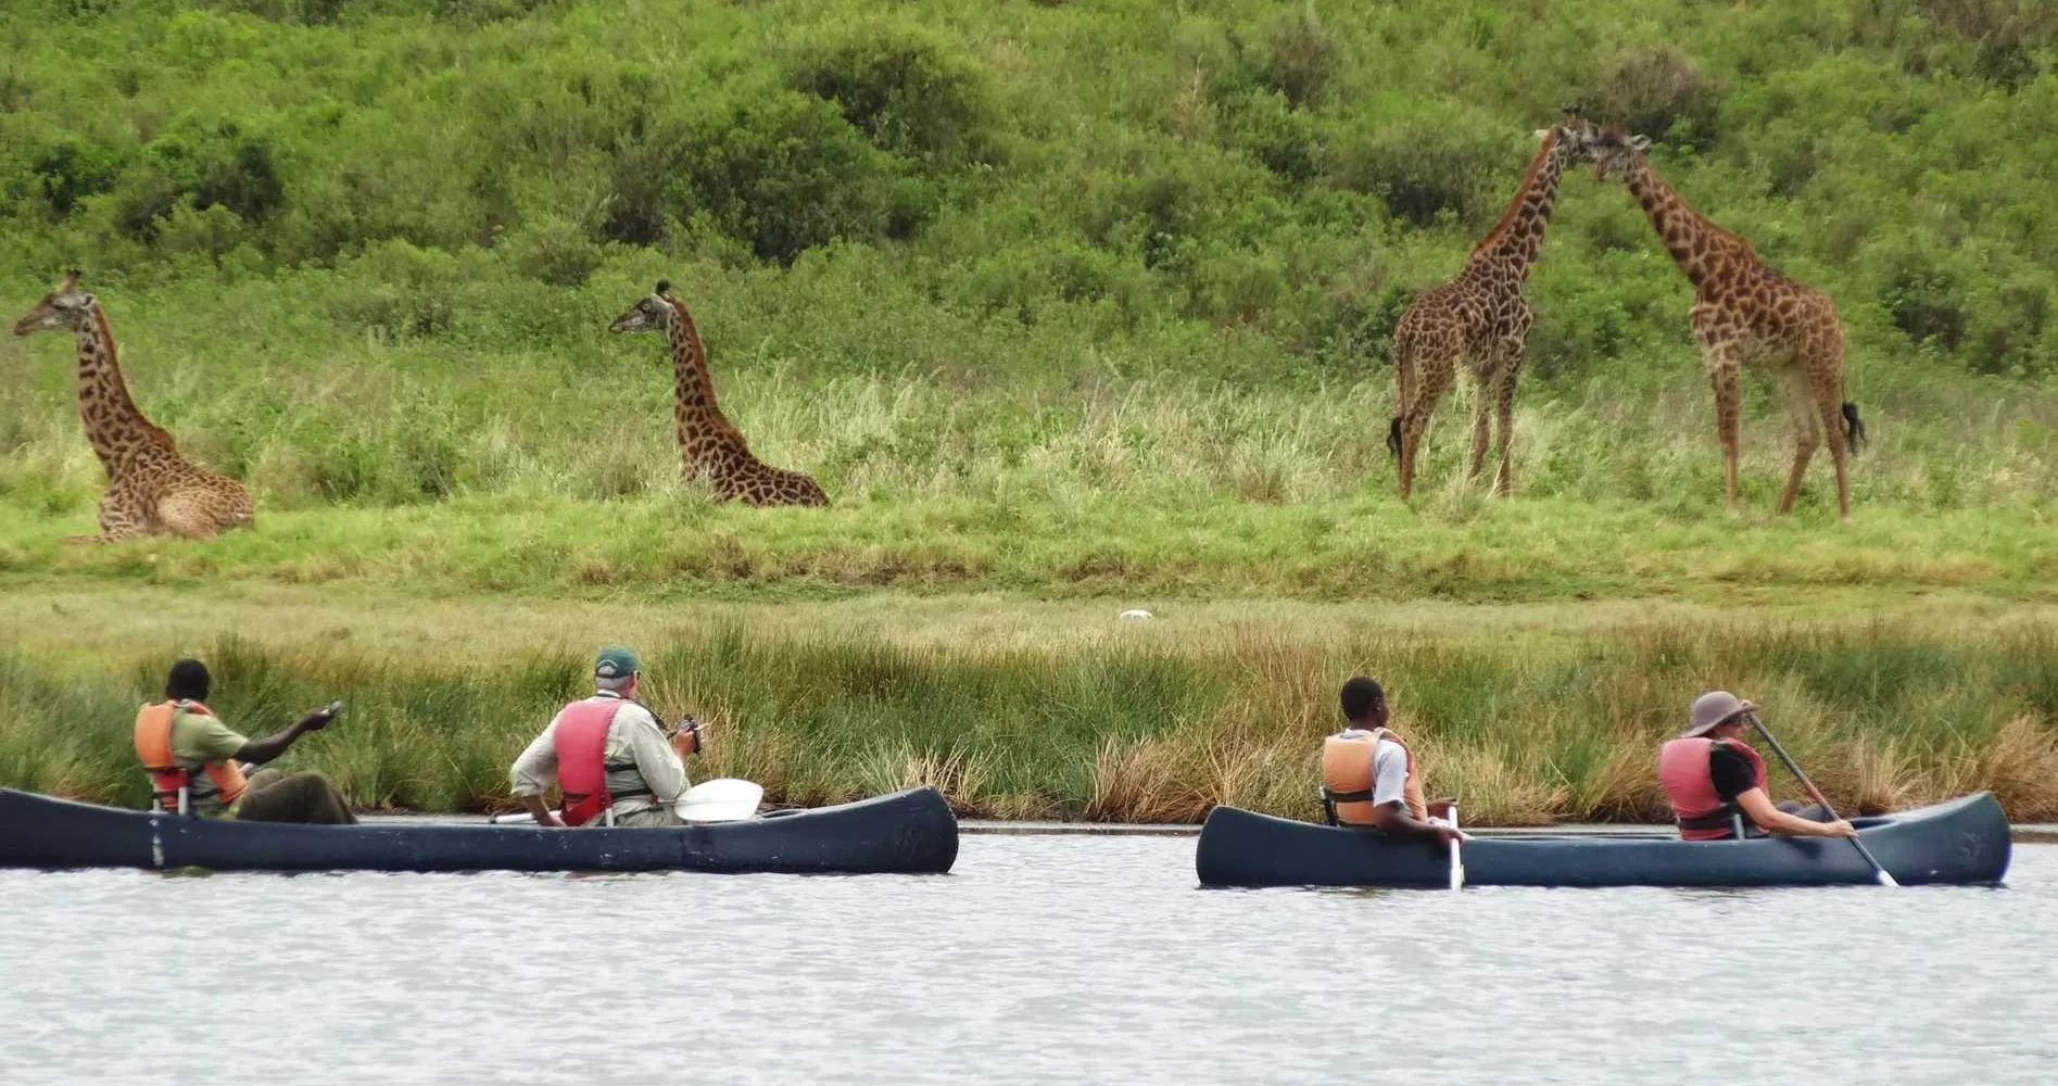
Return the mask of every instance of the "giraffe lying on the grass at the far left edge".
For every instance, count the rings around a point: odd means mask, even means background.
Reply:
[[[78,272],[14,321],[14,335],[37,331],[70,331],[78,339],[78,415],[86,424],[93,452],[107,469],[101,533],[70,537],[70,543],[111,543],[163,533],[212,539],[222,529],[255,522],[243,483],[181,457],[171,434],[144,418],[130,399],[107,313],[93,294],[78,288]]]

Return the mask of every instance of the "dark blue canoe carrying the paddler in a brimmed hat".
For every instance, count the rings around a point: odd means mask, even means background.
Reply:
[[[2009,819],[1992,792],[1852,819],[1904,886],[2000,882]],[[1447,889],[1451,856],[1420,839],[1338,829],[1216,806],[1200,827],[1204,886]],[[1873,868],[1830,837],[1681,841],[1675,833],[1523,833],[1465,843],[1467,886],[1825,886],[1873,882]]]

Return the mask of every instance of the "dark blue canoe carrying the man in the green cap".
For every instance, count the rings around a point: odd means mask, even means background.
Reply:
[[[0,788],[0,868],[941,874],[955,860],[957,819],[934,788],[648,829],[239,823]]]

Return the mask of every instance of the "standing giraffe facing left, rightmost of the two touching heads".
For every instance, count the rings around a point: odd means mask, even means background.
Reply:
[[[1793,510],[1809,459],[1828,434],[1836,467],[1836,514],[1850,520],[1846,452],[1865,442],[1858,405],[1844,399],[1844,323],[1828,294],[1780,276],[1758,259],[1749,241],[1696,212],[1651,167],[1651,140],[1620,130],[1597,132],[1583,144],[1597,179],[1622,177],[1644,208],[1673,263],[1694,284],[1688,325],[1714,387],[1714,428],[1723,440],[1723,485],[1737,512],[1737,374],[1758,366],[1778,376],[1795,428],[1795,465],[1780,494],[1780,512]],[[1842,415],[1842,418],[1838,418]]]

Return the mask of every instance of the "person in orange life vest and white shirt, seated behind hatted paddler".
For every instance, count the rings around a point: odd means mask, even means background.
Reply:
[[[1329,825],[1451,843],[1451,800],[1424,802],[1414,751],[1387,728],[1387,691],[1362,675],[1340,695],[1346,728],[1321,740],[1321,806]]]

